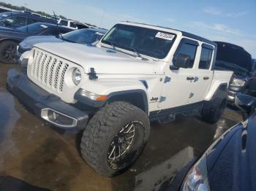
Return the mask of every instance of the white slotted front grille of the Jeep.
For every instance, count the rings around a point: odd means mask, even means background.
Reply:
[[[61,93],[64,88],[64,76],[69,63],[49,52],[35,50],[31,65],[31,77],[42,85]]]

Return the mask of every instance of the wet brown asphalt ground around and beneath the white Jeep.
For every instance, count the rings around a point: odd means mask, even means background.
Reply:
[[[6,90],[7,71],[18,67],[0,63],[0,188],[5,190],[28,190],[25,184],[47,190],[176,190],[182,172],[241,121],[241,114],[227,108],[214,125],[199,117],[151,123],[138,160],[123,174],[106,178],[80,157],[80,132],[48,125]]]

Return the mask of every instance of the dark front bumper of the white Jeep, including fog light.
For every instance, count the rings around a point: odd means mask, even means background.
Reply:
[[[7,74],[7,89],[43,120],[59,128],[83,129],[89,114],[61,101],[29,80],[26,74],[11,69]]]

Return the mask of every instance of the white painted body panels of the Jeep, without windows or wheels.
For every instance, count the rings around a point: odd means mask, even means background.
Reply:
[[[124,90],[143,90],[148,96],[148,112],[157,111],[159,109],[168,109],[177,106],[184,106],[187,104],[197,103],[199,101],[209,101],[216,92],[219,85],[227,83],[232,75],[231,71],[213,71],[198,69],[198,63],[200,59],[200,46],[197,49],[197,55],[195,57],[195,64],[192,69],[179,69],[178,71],[172,71],[169,69],[172,65],[173,54],[176,51],[181,39],[184,38],[181,31],[176,31],[168,28],[161,28],[157,26],[146,26],[138,23],[122,23],[127,25],[143,26],[146,28],[154,28],[161,31],[171,32],[176,34],[176,42],[171,47],[170,52],[164,59],[148,58],[148,61],[143,61],[138,57],[134,57],[134,52],[129,52],[127,55],[123,52],[108,51],[112,48],[108,44],[102,44],[99,42],[97,47],[86,47],[81,44],[72,43],[40,43],[36,44],[33,51],[40,56],[48,55],[56,58],[57,61],[68,63],[67,77],[64,78],[63,90],[57,90],[54,85],[46,85],[42,82],[42,79],[37,77],[37,74],[33,73],[33,70],[40,71],[45,75],[45,65],[41,67],[40,64],[32,64],[34,61],[29,59],[28,76],[32,82],[37,84],[42,89],[47,90],[49,93],[58,95],[61,100],[67,103],[75,103],[74,94],[79,88],[89,90],[97,95],[109,95],[116,91]],[[187,38],[190,39],[190,38]],[[195,40],[195,39],[193,39]],[[199,44],[200,42],[197,40]],[[204,42],[205,43],[205,42]],[[104,45],[105,47],[102,47]],[[118,48],[116,48],[118,50]],[[37,59],[39,59],[39,56]],[[39,59],[42,61],[42,58]],[[38,60],[36,61],[36,63]],[[214,64],[214,56],[211,61],[211,65]],[[35,67],[35,68],[34,68]],[[56,67],[53,71],[56,71]],[[63,71],[64,64],[60,66],[60,71]],[[71,79],[71,73],[74,68],[83,71],[82,81],[80,85],[74,85]],[[88,74],[90,68],[94,68],[98,79],[89,80]],[[188,76],[198,77],[198,82],[189,82],[186,78]],[[61,80],[61,74],[57,77]],[[69,76],[69,77],[68,77]],[[208,77],[208,80],[203,80],[203,77]],[[171,82],[165,83],[165,77],[170,77]],[[140,80],[146,80],[148,83],[148,89],[140,82]],[[57,86],[60,85],[60,81],[57,82]],[[174,90],[171,91],[170,90]],[[189,98],[189,95],[193,93],[193,97]],[[159,101],[160,97],[165,97],[165,101]],[[151,101],[151,98],[159,98],[158,101]]]

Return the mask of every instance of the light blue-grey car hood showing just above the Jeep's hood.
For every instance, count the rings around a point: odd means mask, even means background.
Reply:
[[[56,36],[29,36],[23,40],[23,43],[29,44],[31,47],[34,44],[41,42],[63,42],[61,39],[58,39]]]

